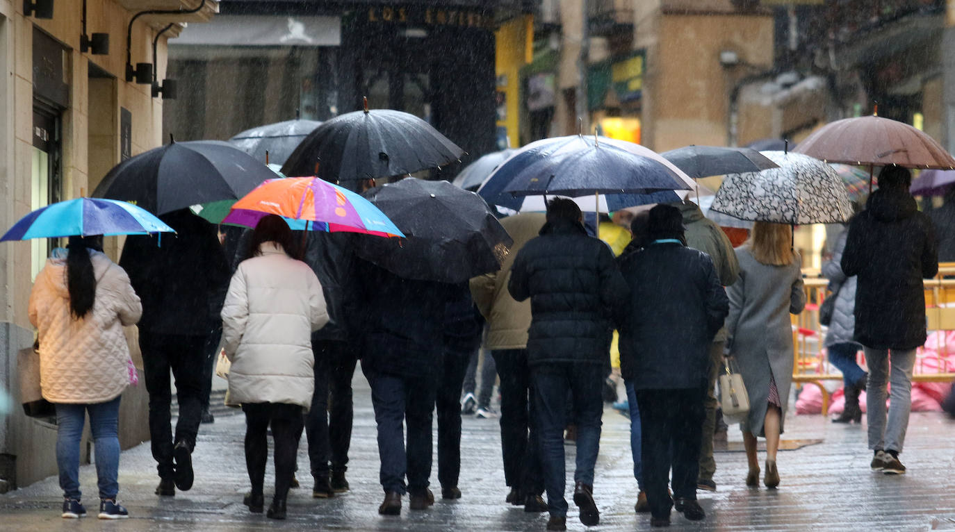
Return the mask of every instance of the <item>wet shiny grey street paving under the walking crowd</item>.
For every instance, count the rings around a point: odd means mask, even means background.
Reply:
[[[355,426],[348,479],[351,491],[330,500],[311,498],[308,456],[303,438],[299,463],[302,488],[288,499],[288,520],[273,521],[249,514],[242,504],[247,490],[243,415],[220,415],[202,425],[193,456],[196,483],[192,490],[168,499],[153,495],[158,479],[155,462],[145,443],[122,454],[119,467],[120,501],[129,509],[127,521],[98,521],[96,472],[83,466],[81,482],[88,510],[94,517],[59,517],[61,492],[55,477],[0,496],[2,530],[158,530],[254,531],[287,530],[543,530],[546,514],[525,514],[504,504],[499,426],[496,419],[463,420],[461,484],[463,498],[439,499],[436,467],[435,506],[411,511],[408,502],[400,517],[376,513],[382,491],[377,482],[378,456],[368,385],[355,379]],[[145,415],[145,414],[144,414]],[[955,422],[937,414],[913,414],[902,461],[908,474],[888,477],[869,471],[871,453],[865,448],[864,424],[834,425],[819,415],[787,418],[784,447],[778,457],[779,489],[750,489],[744,485],[745,454],[741,437],[730,430],[729,445],[717,453],[715,493],[700,492],[706,521],[672,517],[671,530],[955,530]],[[636,516],[636,485],[629,450],[629,421],[607,408],[594,496],[602,512],[601,524],[591,530],[648,530],[649,516]],[[789,444],[787,445],[787,442]],[[573,463],[573,446],[565,447]],[[761,455],[762,457],[762,455]],[[50,457],[53,459],[53,457]],[[436,464],[435,464],[436,465]],[[271,458],[266,475],[269,498]],[[572,467],[568,466],[568,476]],[[568,479],[568,490],[572,483]],[[569,496],[569,493],[568,493]],[[569,500],[569,497],[568,497]],[[584,530],[571,502],[569,530]]]

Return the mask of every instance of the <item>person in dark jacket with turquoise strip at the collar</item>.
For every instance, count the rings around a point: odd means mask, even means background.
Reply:
[[[669,524],[670,507],[692,521],[696,502],[703,399],[710,382],[710,343],[730,303],[710,256],[687,247],[683,216],[672,205],[650,209],[650,243],[627,255],[629,287],[620,317],[620,365],[640,405],[644,489],[651,524]],[[667,492],[673,470],[673,496]]]

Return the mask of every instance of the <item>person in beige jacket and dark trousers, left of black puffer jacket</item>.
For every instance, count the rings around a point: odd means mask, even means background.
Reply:
[[[487,320],[484,349],[491,352],[500,378],[500,450],[504,482],[511,488],[505,502],[523,505],[526,512],[544,512],[543,474],[534,426],[534,390],[527,365],[527,330],[531,302],[517,302],[507,290],[511,266],[520,249],[541,231],[542,213],[520,213],[500,224],[514,239],[500,270],[471,279],[471,294]]]

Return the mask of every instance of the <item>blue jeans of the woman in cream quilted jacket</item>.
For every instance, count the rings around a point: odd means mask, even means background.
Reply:
[[[119,491],[119,397],[105,403],[56,404],[56,467],[65,499],[80,500],[79,440],[86,413],[96,448],[99,499],[116,499]]]

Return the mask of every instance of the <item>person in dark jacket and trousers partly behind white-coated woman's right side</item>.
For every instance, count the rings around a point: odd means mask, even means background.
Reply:
[[[293,233],[294,238],[303,235]],[[350,235],[308,231],[304,261],[318,276],[329,308],[329,323],[311,335],[315,392],[305,421],[308,461],[317,499],[349,491],[348,471],[353,418],[351,377],[358,363],[354,336],[360,328],[354,309],[355,259]],[[330,463],[329,463],[330,462]]]

